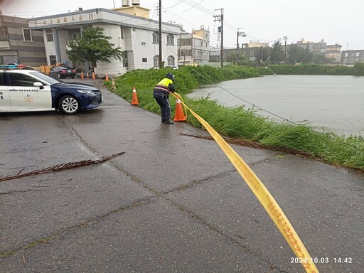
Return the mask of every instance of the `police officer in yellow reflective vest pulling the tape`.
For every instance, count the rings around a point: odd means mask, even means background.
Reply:
[[[173,93],[176,89],[173,85],[174,75],[168,73],[166,77],[158,82],[154,87],[153,97],[156,103],[161,107],[162,123],[173,124],[171,121],[171,105],[169,105],[169,94]]]

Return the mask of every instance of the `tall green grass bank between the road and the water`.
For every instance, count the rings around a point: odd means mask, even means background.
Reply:
[[[287,66],[288,69],[288,66]],[[290,68],[289,68],[290,69]],[[132,88],[136,87],[139,107],[159,113],[159,105],[153,99],[153,89],[159,80],[170,70],[134,70],[114,79],[117,95],[132,101]],[[276,70],[277,71],[277,70]],[[217,132],[235,139],[255,141],[263,146],[271,146],[292,151],[304,151],[316,159],[330,164],[364,170],[364,139],[360,136],[339,136],[324,129],[306,124],[274,122],[245,107],[225,107],[208,98],[191,99],[186,94],[201,85],[211,85],[224,80],[245,79],[274,74],[274,68],[208,66],[183,67],[173,70],[176,76],[176,90],[188,107],[203,117]],[[346,71],[345,71],[346,73]],[[277,73],[278,74],[278,73]],[[109,81],[109,90],[112,83]],[[172,117],[176,100],[170,97]],[[187,121],[200,127],[192,114]]]

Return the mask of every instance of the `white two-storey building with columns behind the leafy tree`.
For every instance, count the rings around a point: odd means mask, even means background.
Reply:
[[[127,14],[132,13],[132,14]],[[119,9],[90,9],[30,19],[31,30],[42,30],[47,64],[71,63],[66,54],[66,42],[82,35],[86,26],[104,28],[105,36],[116,47],[126,51],[127,57],[120,61],[110,58],[111,63],[97,63],[95,73],[121,75],[127,70],[159,67],[159,21],[149,19],[149,9],[126,6]],[[166,65],[177,65],[177,25],[162,23],[162,60]],[[86,65],[87,66],[87,65]]]

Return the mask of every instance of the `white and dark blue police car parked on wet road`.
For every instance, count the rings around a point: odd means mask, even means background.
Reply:
[[[99,89],[65,83],[36,70],[0,65],[0,113],[58,110],[75,114],[102,103]]]

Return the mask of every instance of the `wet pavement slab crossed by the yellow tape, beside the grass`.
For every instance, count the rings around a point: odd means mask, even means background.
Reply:
[[[252,168],[287,215],[311,257],[318,259],[319,270],[361,272],[363,194],[351,191],[363,188],[363,177],[291,155],[253,164]],[[326,181],[321,180],[323,176]],[[330,183],[332,180],[335,182]],[[301,264],[296,267],[289,245],[237,171],[168,193],[166,198],[247,250],[259,253],[262,259],[287,272],[300,272]],[[340,257],[348,257],[351,263],[338,262]]]

